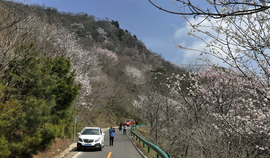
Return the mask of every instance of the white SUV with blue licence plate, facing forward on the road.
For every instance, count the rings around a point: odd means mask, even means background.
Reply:
[[[78,133],[77,151],[81,149],[99,149],[104,147],[104,133],[99,127],[85,127],[81,134]]]

